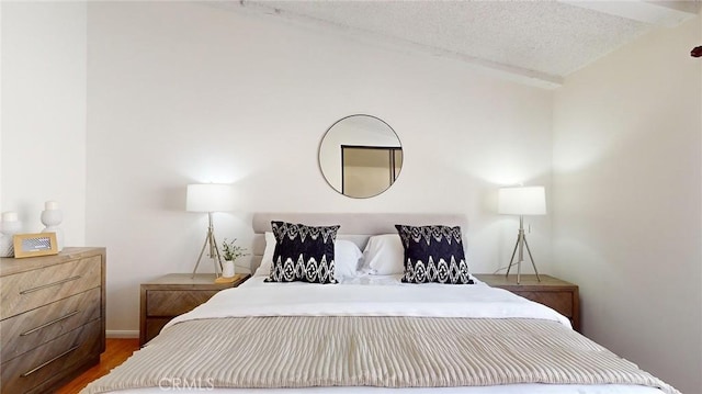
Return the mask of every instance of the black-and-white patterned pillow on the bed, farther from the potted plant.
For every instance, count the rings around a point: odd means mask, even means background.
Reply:
[[[405,283],[473,284],[461,227],[395,225],[405,247]]]

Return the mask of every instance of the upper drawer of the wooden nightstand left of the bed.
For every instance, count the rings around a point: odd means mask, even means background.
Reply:
[[[219,290],[149,290],[146,295],[147,316],[178,316],[212,299]]]

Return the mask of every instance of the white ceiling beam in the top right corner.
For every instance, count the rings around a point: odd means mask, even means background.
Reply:
[[[666,27],[675,27],[697,16],[700,11],[699,1],[558,1],[610,15]]]

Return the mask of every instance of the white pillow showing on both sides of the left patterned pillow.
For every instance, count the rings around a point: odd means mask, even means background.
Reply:
[[[265,249],[263,250],[263,257],[261,257],[261,264],[256,270],[254,275],[268,277],[271,274],[275,244],[278,244],[278,241],[273,233],[265,232]],[[340,280],[343,278],[355,278],[358,275],[359,260],[363,254],[355,244],[350,240],[337,239],[333,244],[333,255],[335,279]]]

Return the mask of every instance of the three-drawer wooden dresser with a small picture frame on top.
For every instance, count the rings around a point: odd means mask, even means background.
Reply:
[[[48,393],[105,349],[105,248],[0,259],[2,394]]]

